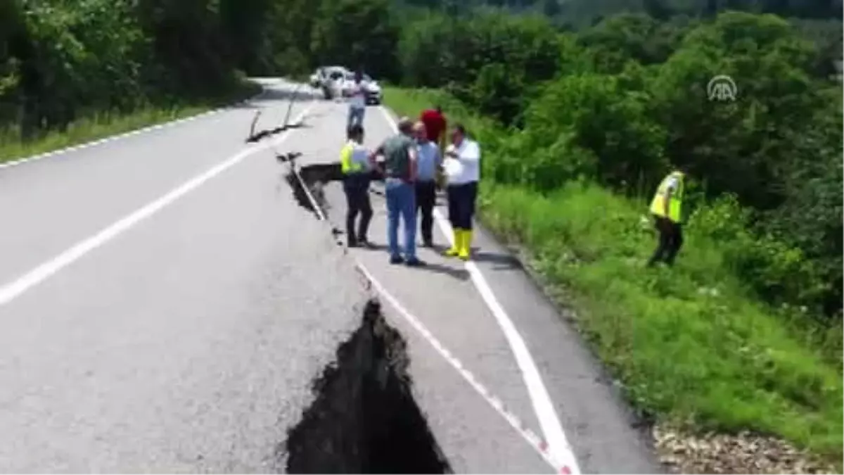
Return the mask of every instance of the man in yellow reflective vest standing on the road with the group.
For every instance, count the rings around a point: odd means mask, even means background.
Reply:
[[[343,191],[346,194],[346,243],[349,248],[369,246],[366,233],[372,219],[369,198],[371,170],[369,150],[363,146],[364,129],[355,123],[349,127],[349,141],[340,150],[340,168],[343,171]],[[360,213],[358,228],[354,221]]]

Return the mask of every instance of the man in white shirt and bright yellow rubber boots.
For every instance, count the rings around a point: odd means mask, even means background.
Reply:
[[[468,260],[480,180],[480,145],[468,139],[462,124],[454,127],[452,145],[446,150],[443,167],[448,179],[448,220],[454,230],[454,245],[446,250],[446,255]]]

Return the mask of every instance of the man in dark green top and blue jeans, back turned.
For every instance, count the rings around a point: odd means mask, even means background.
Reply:
[[[410,266],[424,265],[416,257],[416,143],[413,139],[414,124],[408,117],[398,121],[398,134],[385,140],[370,154],[370,163],[379,168],[384,177],[387,194],[387,242],[390,247],[390,264],[404,262]],[[376,157],[384,156],[381,170]],[[398,248],[398,219],[404,221],[404,257]]]

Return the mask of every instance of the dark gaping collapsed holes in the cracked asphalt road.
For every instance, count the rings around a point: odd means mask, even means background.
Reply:
[[[296,168],[295,152],[276,155],[296,202],[327,221],[322,188],[342,179],[339,163]],[[335,238],[336,229],[332,230]],[[343,245],[339,240],[338,245]],[[360,327],[314,380],[315,399],[279,445],[290,475],[451,475],[414,401],[407,342],[387,324],[381,303],[365,304]]]

